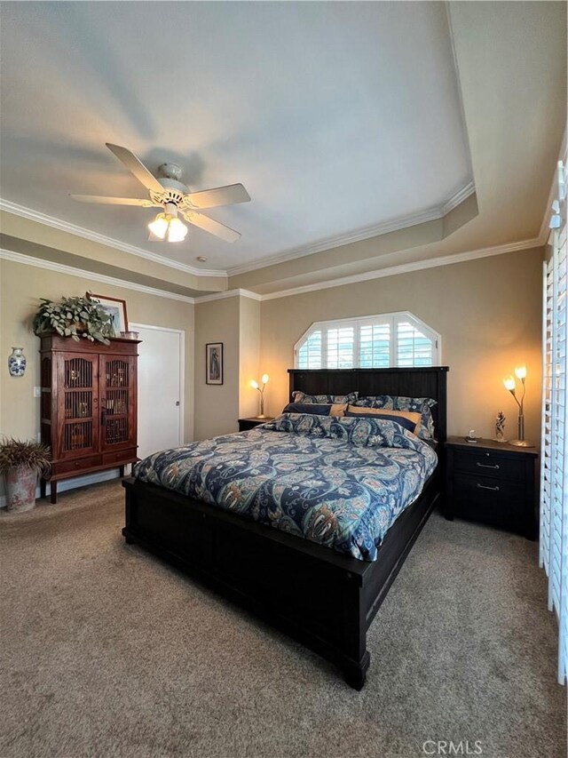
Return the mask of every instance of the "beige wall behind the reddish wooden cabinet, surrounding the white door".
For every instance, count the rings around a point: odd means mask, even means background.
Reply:
[[[101,284],[89,278],[59,274],[0,259],[0,433],[35,439],[39,432],[39,340],[31,319],[39,298],[84,295],[85,291],[125,299],[131,322],[185,331],[185,438],[193,438],[193,304]],[[7,358],[12,346],[24,347],[28,358],[25,376],[9,376]]]

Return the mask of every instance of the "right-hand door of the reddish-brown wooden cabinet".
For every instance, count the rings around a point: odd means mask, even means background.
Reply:
[[[100,356],[101,450],[136,444],[136,358]]]

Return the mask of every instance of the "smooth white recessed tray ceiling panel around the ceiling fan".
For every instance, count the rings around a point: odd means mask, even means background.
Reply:
[[[444,205],[472,180],[442,3],[4,3],[0,195],[199,267],[246,265]],[[192,229],[148,243],[152,210],[105,142],[192,189],[241,181]]]

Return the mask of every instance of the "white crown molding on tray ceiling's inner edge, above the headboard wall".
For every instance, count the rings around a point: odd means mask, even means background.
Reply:
[[[400,229],[406,229],[407,227],[415,227],[417,224],[425,224],[428,221],[437,221],[443,219],[446,213],[452,211],[457,205],[462,203],[469,195],[473,195],[475,192],[475,184],[470,181],[465,187],[458,190],[455,195],[452,195],[444,205],[435,205],[426,211],[420,213],[411,213],[408,216],[401,216],[398,219],[392,219],[390,221],[383,221],[380,224],[374,224],[370,227],[362,227],[355,231],[347,232],[342,235],[335,235],[331,237],[325,237],[312,244],[302,245],[300,247],[291,248],[288,251],[278,253],[277,255],[269,255],[265,258],[256,259],[251,263],[245,263],[242,266],[233,266],[227,268],[227,274],[229,276],[236,276],[239,274],[248,274],[250,271],[256,271],[257,268],[265,268],[267,266],[275,266],[278,263],[287,263],[288,260],[295,260],[296,258],[304,258],[306,255],[312,255],[314,252],[323,252],[326,250],[333,250],[335,247],[341,247],[344,244],[351,244],[355,242],[362,242],[363,240],[370,239],[380,235],[388,235],[390,232],[398,232]]]

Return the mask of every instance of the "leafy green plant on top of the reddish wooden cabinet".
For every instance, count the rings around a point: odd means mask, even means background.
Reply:
[[[59,303],[41,298],[41,306],[34,316],[34,333],[57,331],[61,337],[79,341],[80,337],[97,340],[105,345],[114,337],[111,317],[105,313],[99,300],[91,298],[62,298]]]

